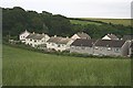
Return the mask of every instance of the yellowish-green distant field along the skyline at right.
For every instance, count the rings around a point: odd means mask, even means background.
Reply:
[[[93,21],[102,21],[105,23],[113,23],[113,24],[123,24],[125,26],[131,25],[131,19],[93,19],[93,18],[81,18],[85,20],[93,20]]]

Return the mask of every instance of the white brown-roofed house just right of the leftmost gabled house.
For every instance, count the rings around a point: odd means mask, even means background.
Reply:
[[[41,44],[47,44],[47,41],[50,38],[48,34],[38,34],[38,33],[31,33],[25,37],[25,44],[31,45],[32,47],[38,47]]]

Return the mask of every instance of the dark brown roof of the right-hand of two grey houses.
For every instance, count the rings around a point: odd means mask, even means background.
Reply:
[[[125,41],[116,40],[98,40],[95,46],[122,47]]]

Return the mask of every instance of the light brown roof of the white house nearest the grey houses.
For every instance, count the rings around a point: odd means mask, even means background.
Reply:
[[[65,37],[50,37],[48,42],[57,43],[57,44],[66,44],[71,41],[71,38],[65,38]]]

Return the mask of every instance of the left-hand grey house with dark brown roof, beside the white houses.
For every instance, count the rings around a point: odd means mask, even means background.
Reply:
[[[93,54],[93,45],[96,40],[76,38],[70,47],[70,53]]]

